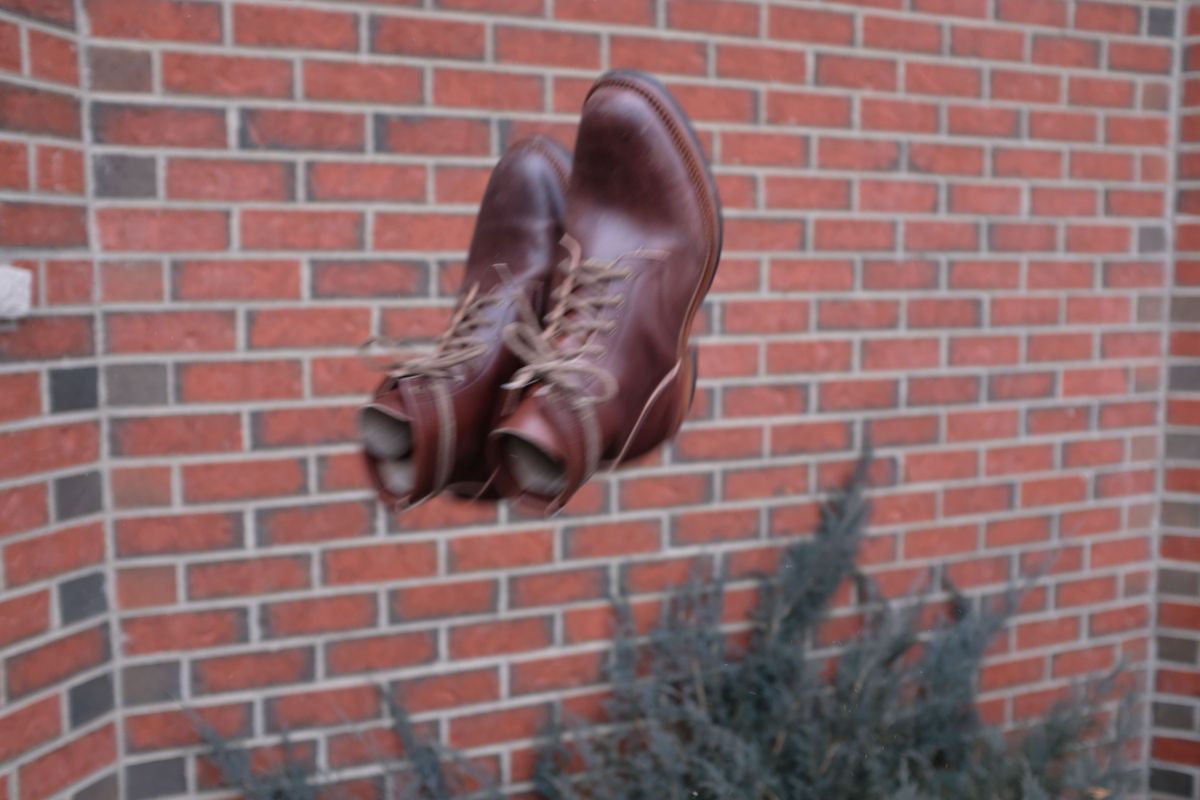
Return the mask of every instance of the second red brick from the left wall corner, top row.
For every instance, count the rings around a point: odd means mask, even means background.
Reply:
[[[358,14],[288,6],[239,4],[233,8],[234,41],[256,47],[356,50]]]

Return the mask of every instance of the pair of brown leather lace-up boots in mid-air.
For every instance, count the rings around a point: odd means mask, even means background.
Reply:
[[[602,76],[574,164],[541,137],[500,158],[448,329],[362,409],[380,498],[446,489],[552,513],[600,467],[672,437],[720,252],[716,187],[682,108],[646,74]]]

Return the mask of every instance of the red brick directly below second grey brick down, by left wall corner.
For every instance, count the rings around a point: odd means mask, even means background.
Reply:
[[[224,211],[100,209],[100,245],[107,251],[221,251],[229,247]]]

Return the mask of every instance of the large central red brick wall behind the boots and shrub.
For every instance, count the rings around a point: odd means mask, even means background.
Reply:
[[[53,30],[25,16],[46,2],[0,7]],[[79,16],[104,398],[88,456],[113,510],[125,796],[211,780],[178,697],[344,766],[371,759],[379,681],[520,784],[553,702],[602,692],[605,591],[625,581],[652,610],[695,561],[769,565],[868,434],[864,563],[889,591],[930,569],[1000,591],[1057,553],[984,674],[990,718],[1027,718],[1121,656],[1145,664],[1172,4],[84,0]],[[440,330],[488,168],[532,132],[570,143],[616,66],[677,91],[725,201],[690,423],[553,521],[388,515],[353,443],[374,380],[356,345]],[[0,140],[74,133],[40,118],[55,128]],[[48,347],[66,324],[40,315],[16,341]],[[58,366],[31,355],[18,372]]]

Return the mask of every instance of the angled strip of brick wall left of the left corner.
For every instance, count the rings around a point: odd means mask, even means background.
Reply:
[[[115,796],[110,559],[78,14],[0,1],[0,798]]]

